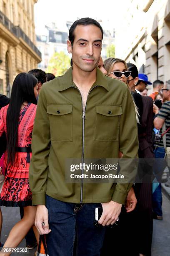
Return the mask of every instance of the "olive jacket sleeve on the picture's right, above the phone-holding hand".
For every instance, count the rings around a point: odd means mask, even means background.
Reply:
[[[117,183],[115,191],[112,195],[112,201],[125,204],[125,200],[130,188],[133,185],[133,180],[135,179],[137,169],[132,170],[130,165],[125,165],[124,159],[129,159],[127,163],[131,164],[130,159],[138,158],[138,128],[135,114],[134,103],[128,90],[124,94],[122,100],[122,115],[120,116],[120,134],[119,134],[119,150],[122,152],[122,168],[120,172],[126,178],[127,183]],[[128,168],[129,167],[129,168]]]

